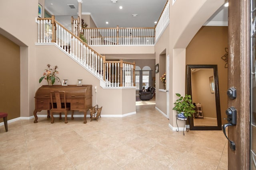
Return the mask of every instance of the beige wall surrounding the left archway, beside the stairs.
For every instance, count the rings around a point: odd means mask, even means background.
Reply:
[[[43,5],[43,4],[42,4]],[[18,19],[22,11],[22,19]],[[20,46],[20,116],[34,110],[38,1],[1,1],[0,34]],[[17,26],[18,25],[18,26]],[[18,28],[18,29],[17,29]],[[32,90],[31,90],[32,89]]]

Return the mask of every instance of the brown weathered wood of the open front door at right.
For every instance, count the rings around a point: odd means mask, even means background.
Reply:
[[[228,88],[236,89],[236,98],[228,98],[234,107],[236,125],[228,127],[228,169],[250,169],[250,1],[229,0],[228,7]],[[255,52],[254,52],[255,53]]]

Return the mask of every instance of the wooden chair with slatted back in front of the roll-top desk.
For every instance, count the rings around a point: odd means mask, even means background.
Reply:
[[[60,97],[60,94],[63,94],[63,97]],[[54,96],[53,96],[54,94]],[[65,123],[68,123],[67,120],[67,112],[70,110],[70,107],[66,106],[66,95],[64,91],[51,91],[50,92],[50,97],[51,97],[51,103],[52,103],[52,109],[50,109],[50,115],[52,117],[52,122],[54,123],[54,117],[53,117],[53,113],[64,113],[65,114]],[[61,98],[63,98],[62,102],[61,102]],[[56,105],[55,105],[56,103]],[[73,112],[72,112],[73,114]],[[72,115],[73,116],[73,115]],[[60,115],[60,119],[61,119],[61,115]]]

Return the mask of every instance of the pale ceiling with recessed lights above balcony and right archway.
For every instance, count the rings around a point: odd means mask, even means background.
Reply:
[[[45,9],[67,26],[70,25],[71,16],[78,16],[78,1],[45,0]],[[82,0],[82,14],[90,14],[97,27],[154,27],[165,4],[166,0]],[[70,5],[74,5],[74,9]],[[222,6],[206,23],[227,23],[227,11]]]

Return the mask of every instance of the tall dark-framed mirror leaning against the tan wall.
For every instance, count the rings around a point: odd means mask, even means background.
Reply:
[[[217,65],[187,65],[187,93],[195,106],[190,130],[221,130]]]

